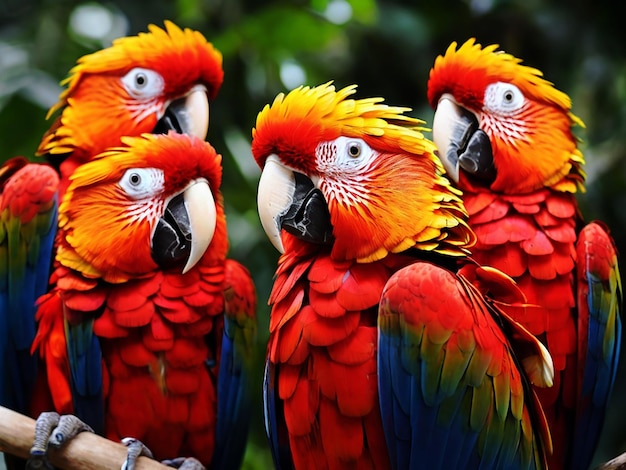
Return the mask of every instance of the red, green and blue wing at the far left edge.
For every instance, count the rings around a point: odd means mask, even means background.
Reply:
[[[30,353],[35,303],[48,289],[58,176],[46,165],[21,159],[9,160],[1,173],[0,404],[28,413],[37,374],[37,358]],[[35,215],[22,222],[16,210]]]

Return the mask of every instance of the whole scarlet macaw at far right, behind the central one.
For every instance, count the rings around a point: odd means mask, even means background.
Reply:
[[[436,59],[428,99],[434,141],[463,190],[475,259],[512,276],[525,308],[507,308],[540,338],[556,369],[537,390],[554,438],[550,468],[588,468],[611,394],[622,288],[613,240],[576,203],[584,159],[571,100],[534,68],[470,39]]]

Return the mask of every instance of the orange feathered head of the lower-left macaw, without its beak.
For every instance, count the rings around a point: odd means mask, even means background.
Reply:
[[[216,203],[217,227],[205,256],[223,259],[226,224],[219,193],[221,156],[198,138],[170,133],[124,137],[70,177],[59,206],[57,261],[84,276],[125,282],[156,271],[150,241],[169,200],[191,182],[206,180]],[[128,190],[128,175],[142,178]]]

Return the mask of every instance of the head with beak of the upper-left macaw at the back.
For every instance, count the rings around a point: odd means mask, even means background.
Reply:
[[[148,29],[78,60],[48,113],[61,110],[38,154],[78,150],[86,160],[119,145],[123,135],[148,132],[206,138],[208,100],[224,76],[221,53],[200,32],[170,21]]]

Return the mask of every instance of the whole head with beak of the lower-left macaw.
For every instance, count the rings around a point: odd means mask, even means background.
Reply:
[[[57,261],[118,283],[156,270],[185,273],[204,256],[223,259],[221,156],[174,132],[122,142],[71,175]]]

